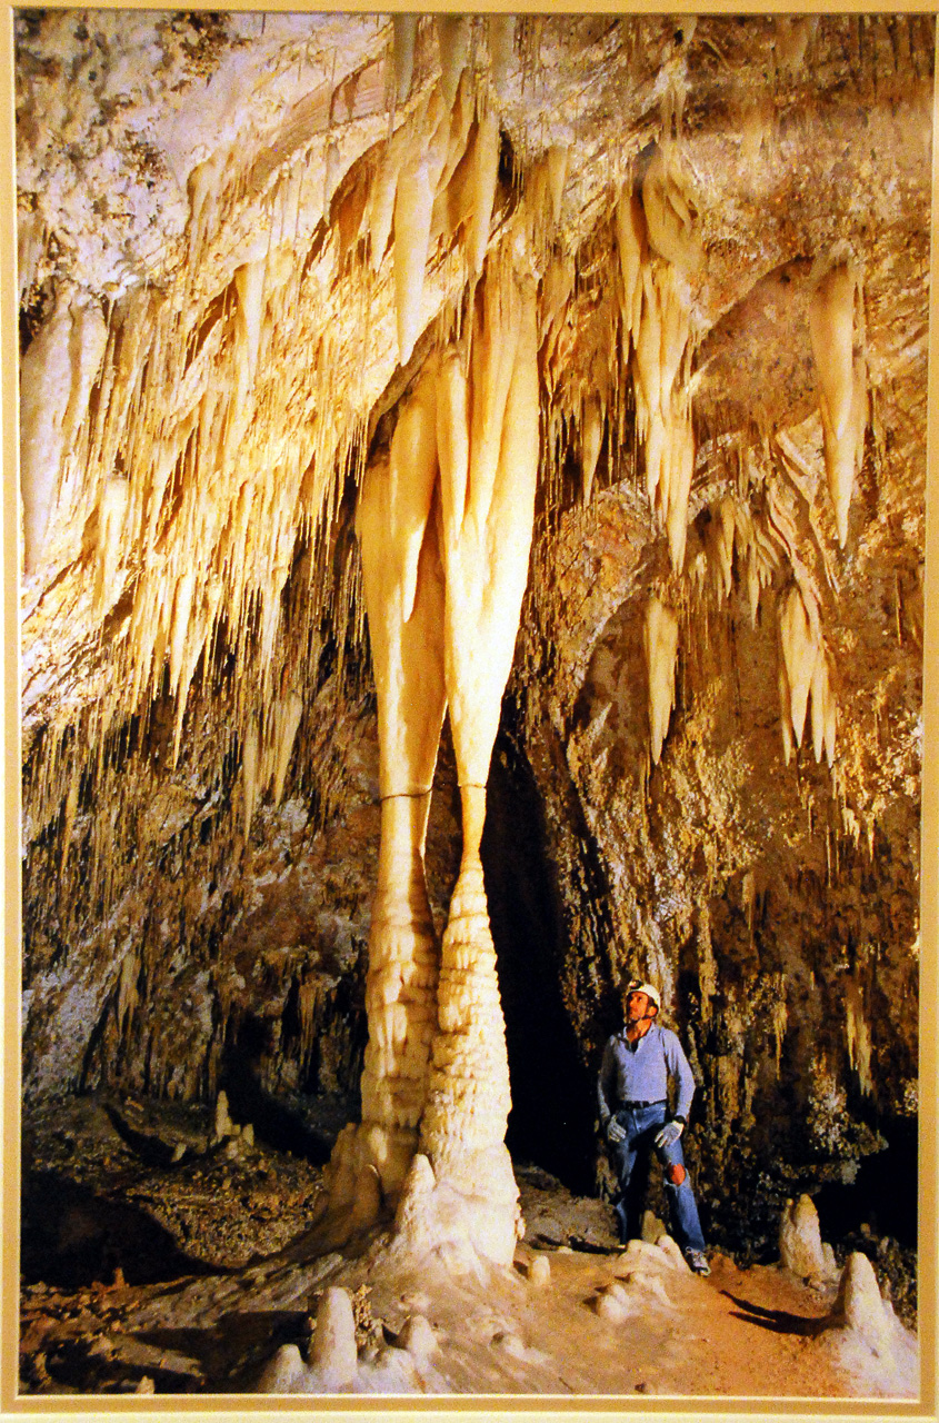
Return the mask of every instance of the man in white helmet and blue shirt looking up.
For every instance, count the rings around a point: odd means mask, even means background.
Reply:
[[[694,1077],[676,1035],[654,1022],[660,998],[652,983],[626,989],[626,1023],[603,1049],[598,1083],[600,1126],[610,1146],[620,1197],[615,1212],[620,1239],[637,1235],[642,1194],[654,1151],[664,1171],[672,1228],[697,1275],[710,1275],[694,1192],[684,1168],[681,1133],[691,1109]],[[677,1081],[669,1117],[669,1081]],[[640,1170],[636,1170],[636,1167]]]

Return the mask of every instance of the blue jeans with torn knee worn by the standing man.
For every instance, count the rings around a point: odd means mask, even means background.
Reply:
[[[704,1249],[697,1202],[684,1170],[681,1138],[679,1137],[670,1147],[654,1144],[659,1131],[669,1120],[666,1103],[654,1101],[649,1107],[620,1107],[616,1120],[626,1131],[625,1141],[610,1141],[609,1144],[620,1188],[620,1197],[613,1207],[620,1241],[625,1244],[642,1234],[643,1198],[649,1183],[649,1164],[654,1153],[664,1173],[672,1229],[677,1235],[679,1245],[681,1249]],[[674,1167],[680,1167],[680,1171],[673,1171]],[[673,1175],[681,1180],[676,1183]]]

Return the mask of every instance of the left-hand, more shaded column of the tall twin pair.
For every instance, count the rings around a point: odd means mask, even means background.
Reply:
[[[374,1218],[414,1155],[437,1019],[438,945],[424,878],[430,793],[445,712],[444,575],[435,519],[435,373],[368,467],[357,532],[378,702],[381,844],[368,933],[361,1124],[340,1136],[330,1207]],[[377,1187],[380,1185],[380,1191]]]

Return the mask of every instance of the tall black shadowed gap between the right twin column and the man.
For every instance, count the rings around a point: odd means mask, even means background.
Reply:
[[[515,1160],[595,1192],[593,1080],[561,996],[561,905],[531,770],[499,739],[482,834],[489,922],[505,1015]]]

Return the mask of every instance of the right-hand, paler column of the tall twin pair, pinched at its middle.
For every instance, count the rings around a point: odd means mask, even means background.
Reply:
[[[421,1153],[441,1239],[509,1264],[518,1188],[505,1147],[509,1079],[479,841],[485,784],[528,581],[539,457],[535,289],[508,255],[477,296],[468,379],[438,380],[445,686],[462,803],[462,859],[441,948],[438,1033]]]

